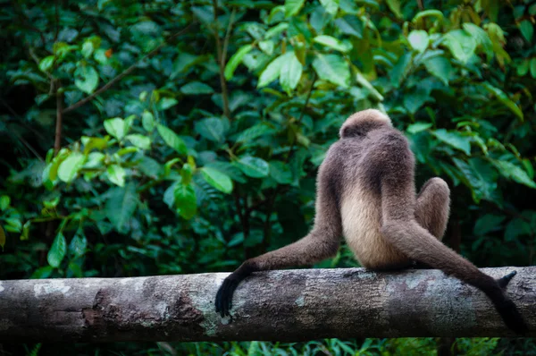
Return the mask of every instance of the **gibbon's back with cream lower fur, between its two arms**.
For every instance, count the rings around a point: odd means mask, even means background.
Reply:
[[[382,157],[397,157],[408,149],[395,129],[370,132],[365,138],[341,140],[334,157],[343,167],[339,209],[345,240],[363,267],[384,269],[406,266],[410,260],[381,235],[381,171],[389,169]],[[400,162],[412,165],[413,162]],[[411,168],[411,167],[406,167]]]

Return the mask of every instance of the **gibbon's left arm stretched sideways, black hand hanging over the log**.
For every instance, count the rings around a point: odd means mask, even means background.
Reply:
[[[329,164],[327,157],[325,164]],[[313,230],[297,242],[254,259],[247,259],[225,278],[216,293],[215,301],[216,312],[222,317],[230,315],[234,291],[239,283],[253,272],[314,264],[337,254],[342,224],[335,187],[329,183],[329,177],[324,177],[322,173],[324,165],[321,165],[318,174]]]

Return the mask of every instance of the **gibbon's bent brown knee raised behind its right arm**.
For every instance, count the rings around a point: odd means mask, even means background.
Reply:
[[[449,209],[447,182],[438,177],[425,182],[415,201],[415,219],[440,241],[447,230]]]

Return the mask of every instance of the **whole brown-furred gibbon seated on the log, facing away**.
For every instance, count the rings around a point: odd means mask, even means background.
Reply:
[[[415,194],[415,157],[404,135],[378,110],[348,117],[319,168],[316,216],[310,233],[279,250],[248,259],[222,284],[216,310],[228,314],[232,293],[255,271],[314,264],[339,249],[339,237],[363,267],[389,270],[412,261],[472,284],[493,301],[507,325],[526,330],[498,283],[442,242],[448,222],[448,184],[432,178]]]

